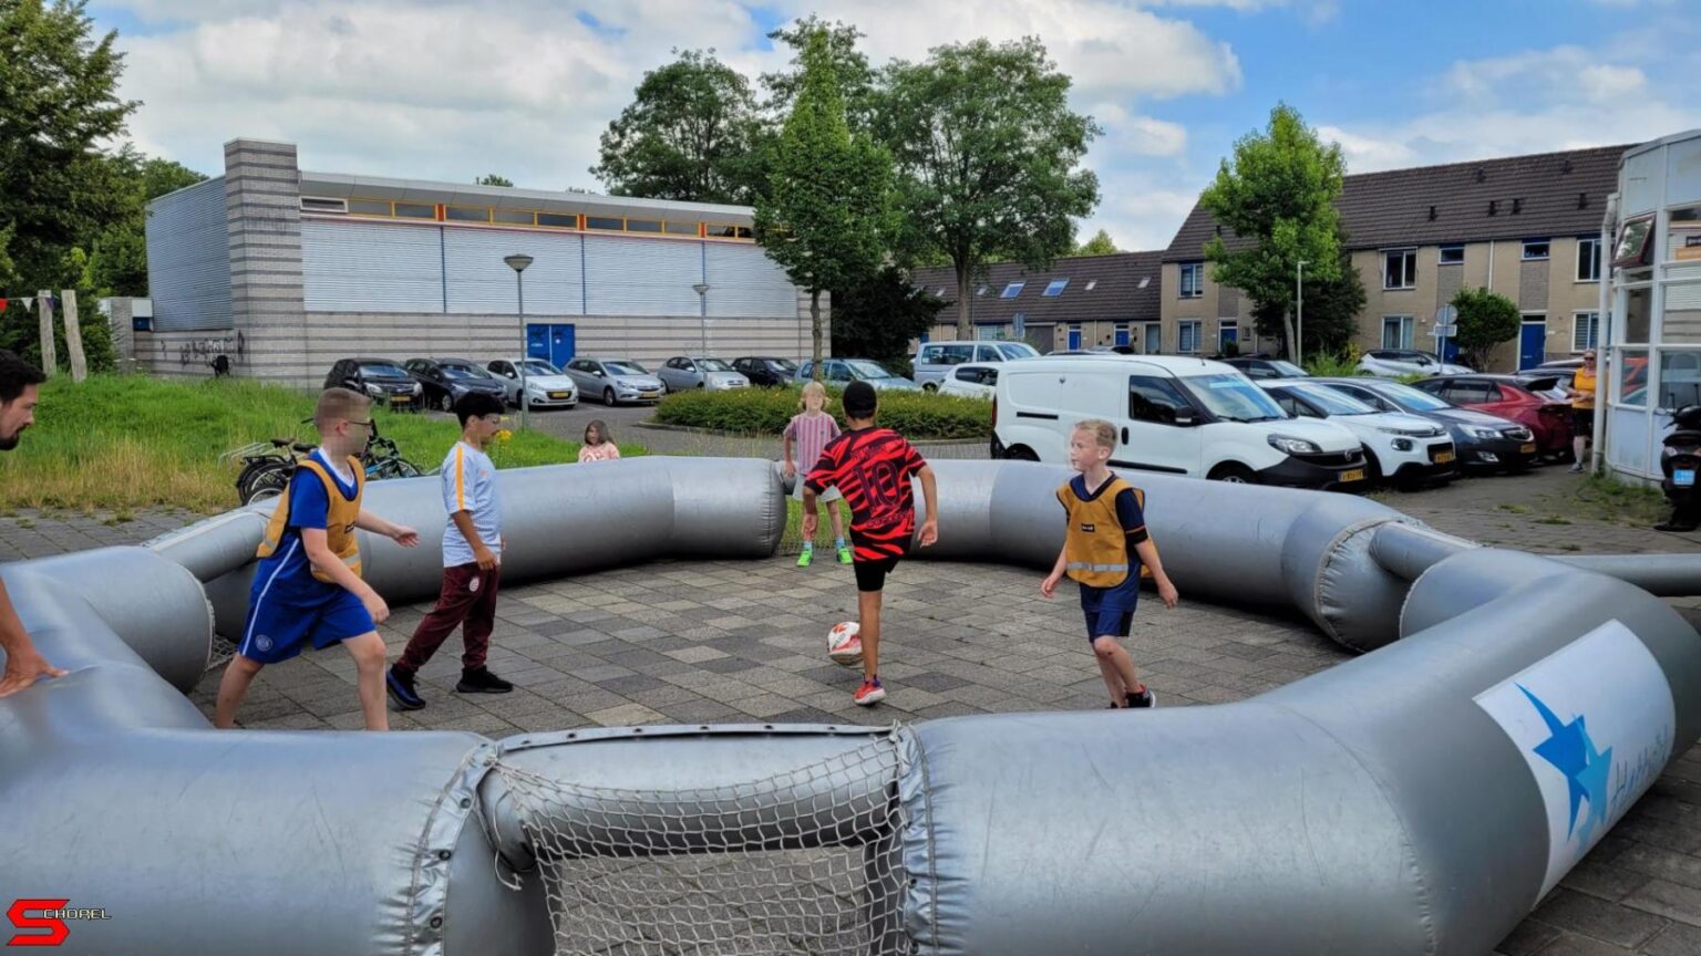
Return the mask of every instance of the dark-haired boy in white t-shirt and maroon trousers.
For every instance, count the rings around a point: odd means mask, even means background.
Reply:
[[[497,505],[497,466],[485,444],[502,430],[502,400],[473,391],[454,405],[461,441],[442,459],[442,500],[449,527],[442,532],[442,590],[437,607],[420,621],[401,660],[390,667],[384,687],[403,711],[425,706],[413,682],[442,641],[461,628],[463,694],[507,694],[514,684],[485,667],[490,631],[497,623],[497,585],[502,577],[502,509]]]

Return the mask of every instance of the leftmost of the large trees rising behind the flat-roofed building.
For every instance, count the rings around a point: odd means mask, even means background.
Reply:
[[[602,133],[590,172],[616,196],[747,204],[757,170],[750,83],[714,51],[674,51]]]

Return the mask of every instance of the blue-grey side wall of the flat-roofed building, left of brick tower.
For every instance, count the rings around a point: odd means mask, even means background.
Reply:
[[[231,327],[225,177],[148,206],[148,294],[162,332]]]

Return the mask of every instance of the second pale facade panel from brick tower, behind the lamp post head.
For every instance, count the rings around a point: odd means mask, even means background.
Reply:
[[[526,315],[585,315],[580,264],[583,236],[486,230],[444,230],[444,276],[452,313],[509,313],[517,308],[514,270],[502,260],[522,252]]]

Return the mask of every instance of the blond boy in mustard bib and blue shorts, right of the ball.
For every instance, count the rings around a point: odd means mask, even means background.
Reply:
[[[1157,697],[1140,682],[1133,658],[1116,638],[1126,638],[1135,623],[1141,565],[1152,572],[1165,607],[1175,607],[1179,595],[1146,534],[1145,495],[1109,468],[1114,451],[1116,429],[1109,422],[1089,418],[1070,434],[1068,463],[1080,475],[1058,488],[1068,532],[1039,594],[1056,594],[1063,575],[1080,585],[1087,641],[1099,658],[1111,708],[1152,708]]]

